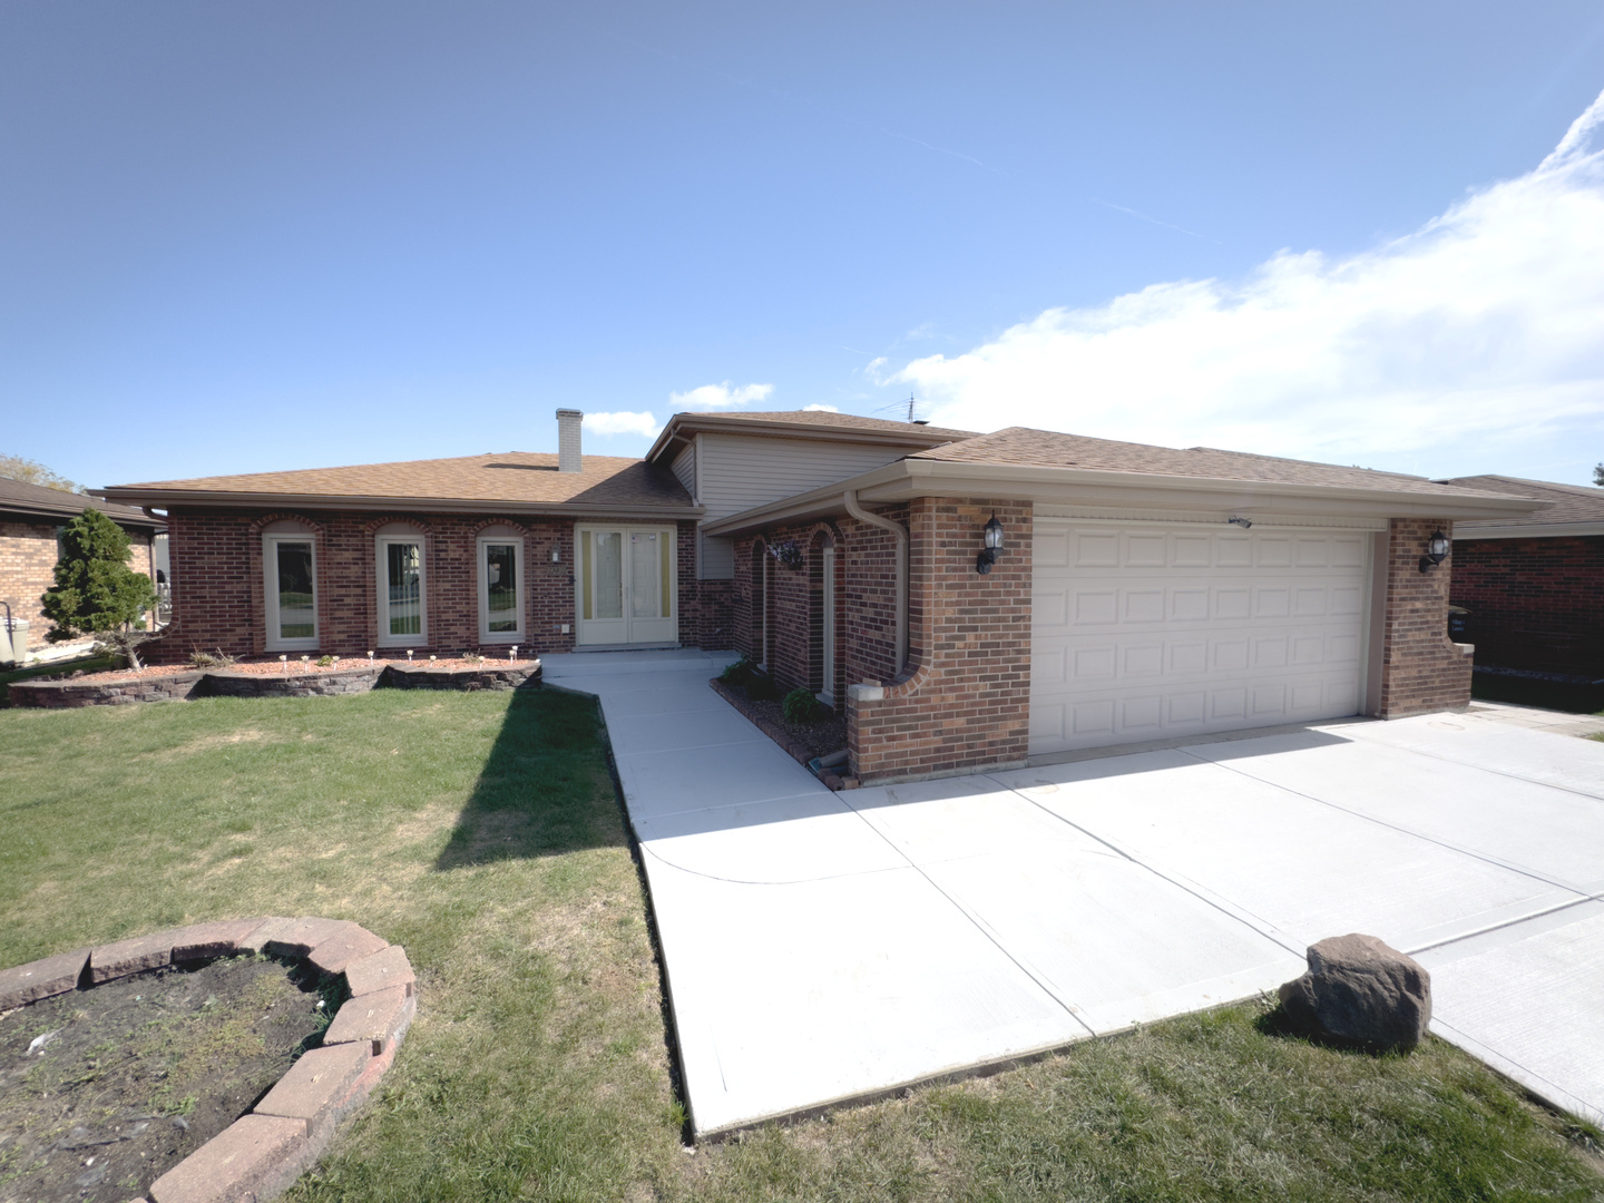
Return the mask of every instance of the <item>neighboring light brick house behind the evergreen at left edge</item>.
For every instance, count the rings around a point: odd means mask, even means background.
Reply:
[[[0,602],[10,606],[14,621],[29,624],[27,643],[34,650],[43,646],[50,630],[38,598],[56,582],[58,533],[85,508],[101,510],[128,533],[133,544],[128,565],[154,579],[154,542],[165,529],[159,518],[0,476]],[[0,606],[0,622],[5,622],[5,606]]]

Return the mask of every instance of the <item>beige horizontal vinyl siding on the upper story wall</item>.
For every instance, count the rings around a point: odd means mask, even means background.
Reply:
[[[696,473],[701,492],[696,500],[707,507],[703,521],[727,518],[754,505],[849,480],[914,451],[914,448],[865,443],[821,443],[711,431],[698,436],[698,446],[701,462],[696,465]],[[677,472],[678,460],[675,460]],[[730,539],[703,537],[698,565],[701,579],[728,581],[735,576],[735,544]]]

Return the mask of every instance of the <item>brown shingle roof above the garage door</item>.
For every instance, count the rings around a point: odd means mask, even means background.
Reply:
[[[1147,443],[1118,443],[1107,438],[1060,435],[1052,430],[1007,427],[991,435],[978,435],[945,448],[919,451],[908,459],[946,460],[956,464],[1015,464],[1043,468],[1094,468],[1100,472],[1132,472],[1160,476],[1201,476],[1208,480],[1251,480],[1277,484],[1325,484],[1344,489],[1384,489],[1389,492],[1423,492],[1460,496],[1503,492],[1532,496],[1516,488],[1471,489],[1437,484],[1424,476],[1405,476],[1371,468],[1344,468],[1275,456],[1251,456],[1214,448],[1158,448]]]

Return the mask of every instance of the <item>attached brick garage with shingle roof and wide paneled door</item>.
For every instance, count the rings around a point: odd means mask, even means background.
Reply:
[[[751,579],[772,587],[738,593],[743,646],[789,643],[789,662],[812,666],[820,640],[839,642],[852,776],[892,783],[1463,709],[1472,650],[1447,624],[1453,523],[1538,505],[1370,468],[1014,427],[704,533],[733,541],[746,576],[762,549],[797,549],[796,574],[770,569]],[[820,526],[840,565],[828,630],[808,592]],[[783,688],[812,678],[792,675]]]

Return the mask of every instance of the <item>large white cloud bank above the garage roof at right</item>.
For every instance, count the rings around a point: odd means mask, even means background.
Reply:
[[[1241,281],[1047,310],[966,354],[868,371],[917,388],[938,425],[972,430],[1426,472],[1513,462],[1516,444],[1525,464],[1538,444],[1591,464],[1604,449],[1604,95],[1533,172],[1365,253],[1282,252]]]

